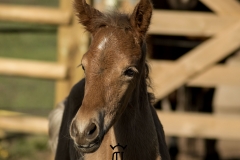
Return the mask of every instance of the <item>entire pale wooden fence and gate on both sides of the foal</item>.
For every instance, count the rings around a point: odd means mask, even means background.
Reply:
[[[175,62],[150,60],[151,77],[157,99],[165,97],[185,84],[205,87],[240,86],[240,67],[215,65],[240,47],[240,4],[236,0],[201,0],[201,2],[214,13],[165,10],[153,12],[150,34],[209,37]],[[29,14],[30,11],[38,13],[33,17]],[[71,86],[83,76],[81,70],[76,72],[75,66],[80,62],[89,43],[89,36],[83,32],[83,28],[75,19],[71,1],[61,0],[58,9],[0,5],[0,20],[58,25],[57,62],[0,58],[0,74],[54,79],[55,102],[63,100]],[[36,70],[37,68],[39,70]],[[222,78],[223,75],[228,78]],[[240,140],[239,117],[160,111],[158,115],[167,135]],[[20,117],[24,122],[22,126],[26,125],[27,128],[32,128],[31,125],[43,126],[41,131],[37,132],[47,133],[46,119],[37,118],[32,121],[34,124],[29,124],[24,118],[36,117],[19,114],[11,116],[7,114],[2,117],[0,129],[36,133],[35,129],[16,128],[14,123],[18,123]]]

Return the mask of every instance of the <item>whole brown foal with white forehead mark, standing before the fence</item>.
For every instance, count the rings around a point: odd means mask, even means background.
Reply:
[[[65,102],[55,159],[170,159],[147,92],[152,4],[141,0],[131,15],[103,14],[85,0],[75,0],[75,8],[92,43],[81,62],[85,80]]]

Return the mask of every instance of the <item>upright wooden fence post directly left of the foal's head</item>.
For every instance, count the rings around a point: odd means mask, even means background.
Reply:
[[[73,12],[72,3],[68,0],[61,0],[61,8]],[[73,16],[73,23],[70,26],[58,28],[58,61],[67,64],[70,70],[67,80],[56,83],[56,104],[62,101],[69,94],[70,88],[84,77],[83,70],[77,66],[81,63],[88,45],[89,34],[79,24],[76,16]]]

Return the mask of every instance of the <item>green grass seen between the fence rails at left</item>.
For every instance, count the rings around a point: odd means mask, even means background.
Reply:
[[[58,0],[0,0],[0,4],[57,7]],[[56,26],[0,21],[0,58],[56,61],[56,39]],[[47,117],[53,102],[54,81],[0,75],[0,110]],[[47,136],[7,133],[12,135],[0,139],[0,160],[49,157]]]

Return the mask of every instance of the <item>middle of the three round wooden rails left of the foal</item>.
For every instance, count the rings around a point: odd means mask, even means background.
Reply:
[[[67,67],[53,62],[0,58],[0,74],[33,78],[64,79]]]

